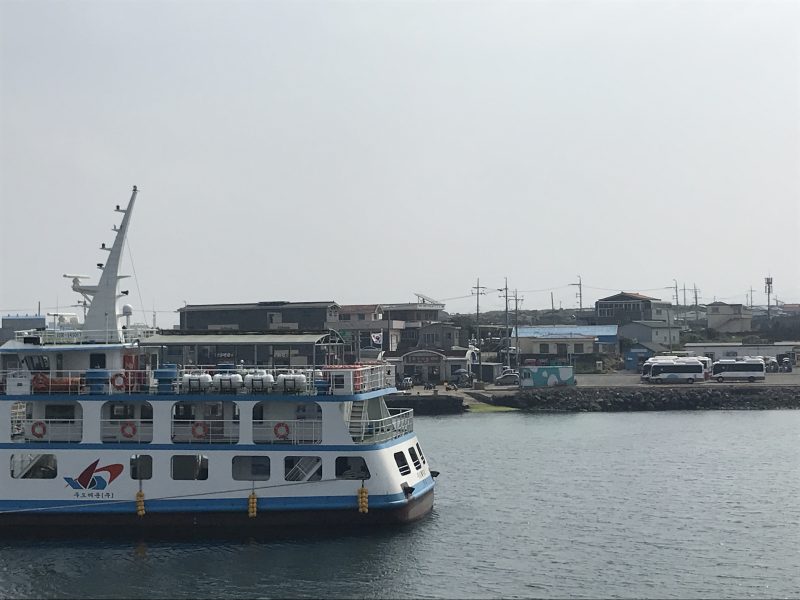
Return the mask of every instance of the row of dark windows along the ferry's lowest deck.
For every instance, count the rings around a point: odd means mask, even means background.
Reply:
[[[419,471],[426,464],[419,444],[408,447],[408,455],[414,468]],[[394,460],[401,475],[409,475],[411,466],[405,452],[394,453]],[[121,465],[120,465],[121,468]],[[339,456],[335,462],[336,479],[369,479],[367,463],[361,456]],[[267,481],[272,473],[268,456],[234,456],[231,474],[237,481]],[[322,479],[322,457],[287,456],[283,460],[283,476],[286,481],[320,481]],[[131,479],[145,480],[153,477],[153,457],[149,454],[134,454],[130,458]],[[170,474],[179,481],[208,479],[208,456],[204,454],[179,454],[170,457]],[[11,477],[13,479],[55,479],[58,463],[55,454],[12,454]]]

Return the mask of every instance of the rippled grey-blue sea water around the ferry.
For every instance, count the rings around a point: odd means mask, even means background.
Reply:
[[[434,512],[277,542],[0,542],[0,598],[797,598],[800,411],[418,417]]]

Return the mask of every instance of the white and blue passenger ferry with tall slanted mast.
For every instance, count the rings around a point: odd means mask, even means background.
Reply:
[[[83,323],[0,347],[0,536],[272,536],[428,515],[438,473],[413,411],[387,407],[392,365],[342,364],[333,330],[131,324],[119,267],[137,193],[116,207],[97,284],[66,276]],[[209,343],[251,361],[195,364]]]

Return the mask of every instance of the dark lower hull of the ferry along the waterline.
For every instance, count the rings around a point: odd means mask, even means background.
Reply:
[[[259,510],[246,512],[147,513],[5,513],[0,514],[0,538],[262,538],[327,534],[412,523],[433,509],[434,489],[399,507],[370,510]]]

